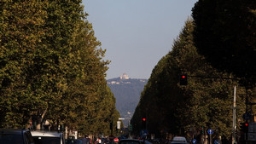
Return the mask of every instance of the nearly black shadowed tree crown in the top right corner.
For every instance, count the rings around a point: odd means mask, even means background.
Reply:
[[[255,85],[255,1],[199,0],[193,9],[195,46],[212,66]]]

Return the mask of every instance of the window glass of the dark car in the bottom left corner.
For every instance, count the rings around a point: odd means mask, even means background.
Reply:
[[[23,144],[21,135],[0,134],[0,143],[2,144]]]

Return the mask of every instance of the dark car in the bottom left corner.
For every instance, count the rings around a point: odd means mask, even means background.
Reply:
[[[34,144],[30,130],[0,129],[1,144]]]

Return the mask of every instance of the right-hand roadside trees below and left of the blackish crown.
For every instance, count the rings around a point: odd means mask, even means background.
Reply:
[[[193,41],[194,28],[194,21],[187,20],[172,51],[154,67],[131,119],[133,125],[138,125],[135,128],[137,131],[140,130],[138,119],[146,113],[147,128],[156,135],[160,135],[160,131],[187,135],[190,130],[200,131],[201,126],[204,126],[207,130],[218,130],[218,135],[229,139],[233,89],[239,84],[232,80],[218,79],[233,76],[214,69],[202,55],[197,54]],[[189,77],[188,85],[183,86],[179,85],[181,73],[215,78]],[[239,87],[239,93],[244,93],[242,87]],[[237,96],[236,101],[240,107],[236,113],[237,118],[241,120],[244,96]]]

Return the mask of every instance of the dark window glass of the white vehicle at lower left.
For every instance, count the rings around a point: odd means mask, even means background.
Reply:
[[[48,137],[48,136],[33,136],[35,143],[37,144],[60,144],[60,137]]]

